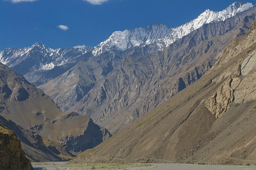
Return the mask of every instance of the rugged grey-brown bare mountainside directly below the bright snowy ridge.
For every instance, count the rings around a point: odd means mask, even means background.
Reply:
[[[219,57],[218,52],[248,30],[255,9],[206,24],[164,51],[146,57],[124,55],[120,65],[70,111],[89,115],[116,133],[204,75]]]

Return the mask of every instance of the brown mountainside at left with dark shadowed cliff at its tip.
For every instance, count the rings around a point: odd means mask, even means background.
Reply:
[[[14,131],[22,134],[24,150],[34,161],[46,160],[47,155],[50,155],[48,160],[66,160],[111,137],[105,128],[94,124],[88,116],[61,112],[41,89],[2,63],[0,86],[0,116],[12,120],[3,119],[5,126],[13,127]],[[22,128],[15,127],[15,123]],[[44,136],[45,141],[38,134]],[[88,142],[84,138],[91,139]],[[74,146],[73,142],[79,145]],[[50,147],[45,147],[44,143]]]

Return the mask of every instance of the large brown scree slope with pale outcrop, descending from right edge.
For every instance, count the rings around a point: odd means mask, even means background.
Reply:
[[[256,21],[199,80],[78,161],[255,164],[255,36]]]

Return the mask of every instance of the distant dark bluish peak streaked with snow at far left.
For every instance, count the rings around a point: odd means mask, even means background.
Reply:
[[[30,71],[52,69],[91,50],[92,47],[51,49],[36,42],[26,48],[0,50],[0,62],[24,75]]]

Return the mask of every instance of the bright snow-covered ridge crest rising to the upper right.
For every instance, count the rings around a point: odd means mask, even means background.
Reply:
[[[210,22],[224,21],[237,13],[251,8],[252,3],[235,2],[226,9],[216,12],[205,10],[196,19],[176,28],[168,28],[164,24],[151,24],[147,27],[133,30],[115,31],[105,41],[94,47],[93,54],[98,55],[111,49],[126,50],[136,46],[157,44],[158,50],[163,50],[174,41]]]

